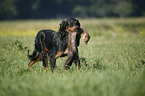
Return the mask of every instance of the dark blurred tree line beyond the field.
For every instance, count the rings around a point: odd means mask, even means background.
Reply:
[[[0,20],[145,16],[145,0],[0,0]]]

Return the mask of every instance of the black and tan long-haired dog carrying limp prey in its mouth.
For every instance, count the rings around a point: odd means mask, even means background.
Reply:
[[[89,34],[80,28],[80,23],[74,18],[63,20],[60,24],[59,32],[53,30],[41,30],[35,37],[35,48],[28,57],[31,61],[28,67],[32,66],[37,61],[42,61],[43,66],[48,70],[48,59],[50,61],[51,70],[56,65],[57,57],[64,57],[67,55],[68,35],[69,32],[77,32],[76,44],[79,46],[81,35],[86,36],[84,42],[87,43],[90,39]]]

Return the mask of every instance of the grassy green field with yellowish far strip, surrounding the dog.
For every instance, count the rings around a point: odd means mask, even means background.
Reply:
[[[81,70],[54,73],[41,62],[28,68],[27,50],[41,29],[58,30],[62,20],[0,21],[0,96],[144,96],[145,18],[80,19],[91,36],[81,39]]]

